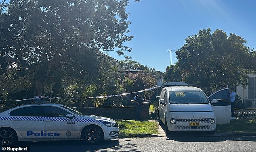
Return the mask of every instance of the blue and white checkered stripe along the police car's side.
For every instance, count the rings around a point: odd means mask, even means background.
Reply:
[[[84,122],[84,123],[104,123],[107,121],[96,120],[96,119],[82,119],[82,118],[73,118],[69,119],[67,117],[0,117],[0,120],[30,120],[30,121],[70,121],[70,122]]]

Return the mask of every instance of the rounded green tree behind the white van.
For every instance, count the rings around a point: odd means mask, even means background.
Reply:
[[[227,36],[218,29],[202,29],[189,36],[176,51],[181,80],[208,92],[227,85],[245,86],[248,74],[255,69],[251,49],[245,44],[242,37]]]

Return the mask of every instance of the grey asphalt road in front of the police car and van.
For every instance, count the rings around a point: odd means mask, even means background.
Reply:
[[[99,145],[83,141],[20,142],[30,152],[255,152],[256,136],[154,137],[107,140]]]

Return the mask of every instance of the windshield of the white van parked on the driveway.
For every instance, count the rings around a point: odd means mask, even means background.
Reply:
[[[209,103],[202,91],[171,91],[170,104],[206,104]]]

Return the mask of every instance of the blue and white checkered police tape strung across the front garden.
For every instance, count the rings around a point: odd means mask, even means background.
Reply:
[[[153,87],[153,88],[147,88],[147,89],[144,89],[144,90],[139,90],[139,91],[130,92],[130,93],[103,95],[103,96],[96,96],[96,97],[68,98],[68,97],[35,96],[34,98],[29,98],[29,99],[21,99],[21,100],[0,100],[0,101],[30,101],[30,100],[41,100],[41,99],[73,99],[73,100],[74,100],[74,99],[100,99],[100,98],[118,97],[118,96],[122,96],[122,95],[138,93],[138,92],[145,92],[145,91],[157,89],[157,88],[159,88],[159,87],[161,87],[161,86],[156,86],[156,87]]]

